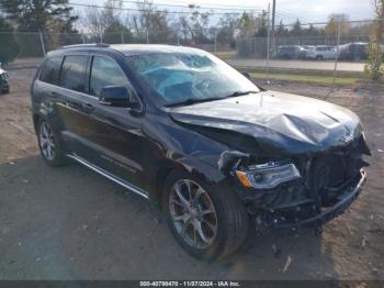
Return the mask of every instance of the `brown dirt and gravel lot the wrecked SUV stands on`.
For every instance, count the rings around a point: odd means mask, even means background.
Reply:
[[[361,117],[374,154],[348,212],[320,236],[251,234],[239,253],[207,264],[177,245],[146,200],[76,164],[48,168],[31,120],[34,70],[9,73],[12,92],[0,96],[0,279],[384,279],[383,89],[328,97]],[[317,98],[330,91],[271,89]]]

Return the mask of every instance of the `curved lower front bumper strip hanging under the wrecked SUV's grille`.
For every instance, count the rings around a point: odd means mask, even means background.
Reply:
[[[342,214],[350,204],[358,198],[358,196],[361,192],[361,188],[366,179],[366,174],[362,169],[360,171],[360,177],[355,181],[353,181],[353,185],[351,185],[349,188],[347,188],[347,191],[341,195],[339,198],[341,199],[336,204],[334,204],[328,210],[323,211],[318,215],[314,218],[309,218],[300,222],[295,223],[273,223],[273,228],[278,230],[282,230],[285,232],[301,232],[304,230],[314,230],[317,228],[320,228],[321,225],[326,224],[327,222],[331,221],[336,217]]]

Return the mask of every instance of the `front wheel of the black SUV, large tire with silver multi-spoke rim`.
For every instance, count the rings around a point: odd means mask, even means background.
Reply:
[[[189,185],[193,197],[188,195]],[[177,190],[184,200],[193,198],[195,207],[185,209]],[[199,259],[224,258],[237,251],[247,239],[249,218],[246,207],[229,189],[218,190],[187,171],[174,170],[166,180],[161,203],[176,240]],[[191,218],[188,219],[187,214]]]

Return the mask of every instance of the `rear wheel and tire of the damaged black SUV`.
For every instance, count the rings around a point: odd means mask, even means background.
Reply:
[[[67,157],[58,141],[57,133],[52,129],[50,124],[46,120],[39,120],[36,131],[38,148],[45,163],[52,167],[66,165],[68,163]]]

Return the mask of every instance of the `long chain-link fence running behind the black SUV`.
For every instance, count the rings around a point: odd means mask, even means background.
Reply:
[[[295,75],[349,78],[345,82],[363,78],[369,59],[369,43],[374,30],[373,21],[304,24],[279,26],[274,33],[255,37],[255,32],[241,29],[214,27],[199,31],[144,31],[142,33],[38,33],[0,32],[12,37],[19,46],[16,62],[25,58],[41,60],[60,46],[87,43],[106,44],[171,44],[192,46],[215,53],[239,69],[266,79],[292,79]],[[253,35],[252,35],[253,34]],[[384,54],[384,48],[383,48]],[[316,63],[315,63],[316,62]],[[291,76],[291,77],[289,77]],[[296,77],[298,78],[298,77]],[[303,77],[301,77],[303,80]],[[305,78],[304,78],[305,80]],[[317,79],[320,81],[320,79]],[[329,79],[328,79],[329,80]],[[336,82],[336,78],[334,79]]]

